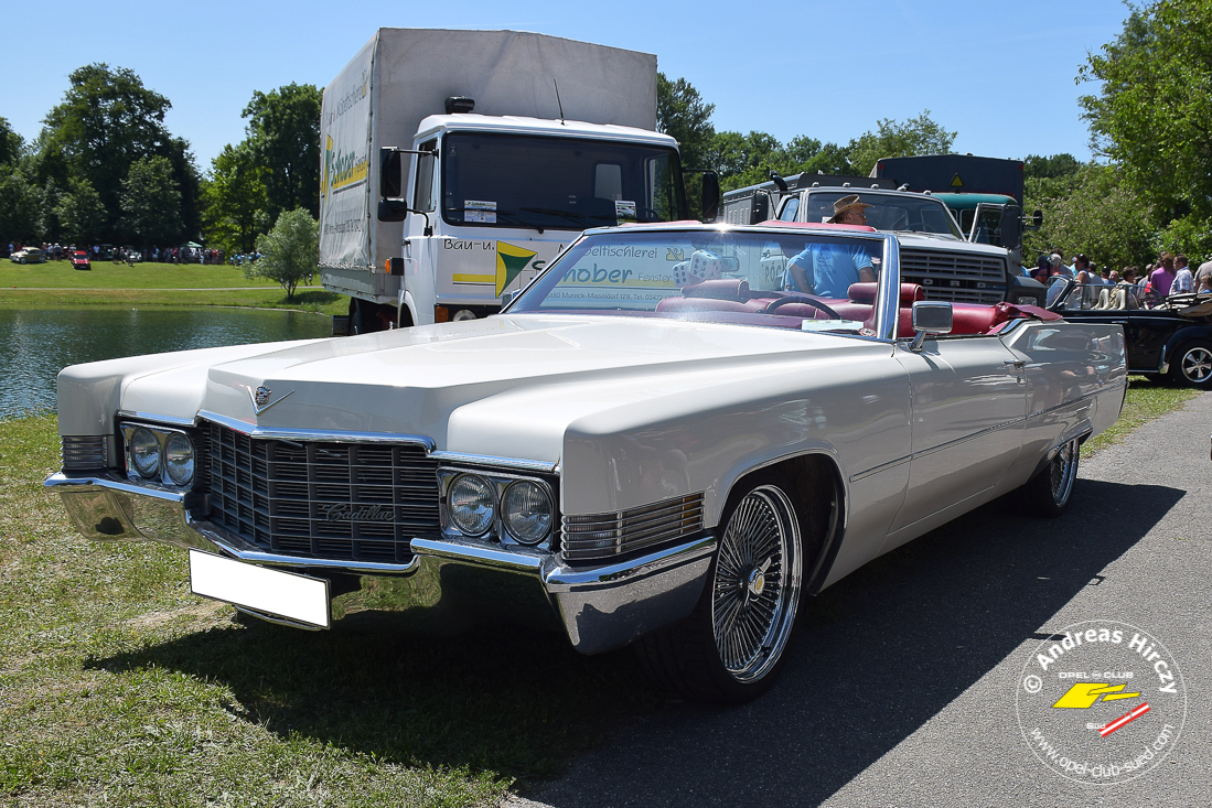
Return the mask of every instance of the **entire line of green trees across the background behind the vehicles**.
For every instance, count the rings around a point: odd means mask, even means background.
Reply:
[[[1113,267],[1161,250],[1212,256],[1208,42],[1208,0],[1130,6],[1124,30],[1076,76],[1096,87],[1080,101],[1094,160],[1024,160],[1024,207],[1045,213],[1024,254],[1085,252]],[[165,127],[167,98],[131,70],[79,68],[33,142],[0,118],[0,237],[166,246],[201,235],[207,246],[250,252],[282,212],[319,213],[320,101],[314,85],[255,92],[242,110],[246,137],[202,173],[189,143]],[[947,153],[957,134],[924,110],[881,119],[845,144],[807,134],[782,143],[716,131],[714,110],[686,79],[658,76],[658,128],[679,141],[685,166],[715,170],[724,190],[771,171],[867,176],[880,157]]]

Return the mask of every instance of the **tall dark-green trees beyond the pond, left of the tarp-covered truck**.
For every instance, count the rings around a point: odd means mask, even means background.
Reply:
[[[251,252],[284,211],[319,213],[320,90],[257,91],[246,137],[205,174],[165,126],[172,108],[126,68],[68,76],[63,101],[27,143],[0,118],[0,239]]]

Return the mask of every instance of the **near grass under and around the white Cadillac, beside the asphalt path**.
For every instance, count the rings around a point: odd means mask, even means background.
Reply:
[[[1137,382],[1088,451],[1195,395]],[[53,416],[0,420],[0,804],[492,804],[668,698],[554,635],[244,624],[179,550],[76,535],[57,468]]]

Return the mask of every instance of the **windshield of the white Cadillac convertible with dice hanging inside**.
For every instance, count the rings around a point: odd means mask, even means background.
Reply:
[[[510,313],[610,314],[870,333],[879,236],[719,230],[585,235]]]

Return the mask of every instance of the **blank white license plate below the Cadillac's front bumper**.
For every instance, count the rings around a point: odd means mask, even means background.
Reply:
[[[268,567],[247,565],[201,550],[189,550],[189,589],[255,612],[305,623],[331,625],[328,581]]]

